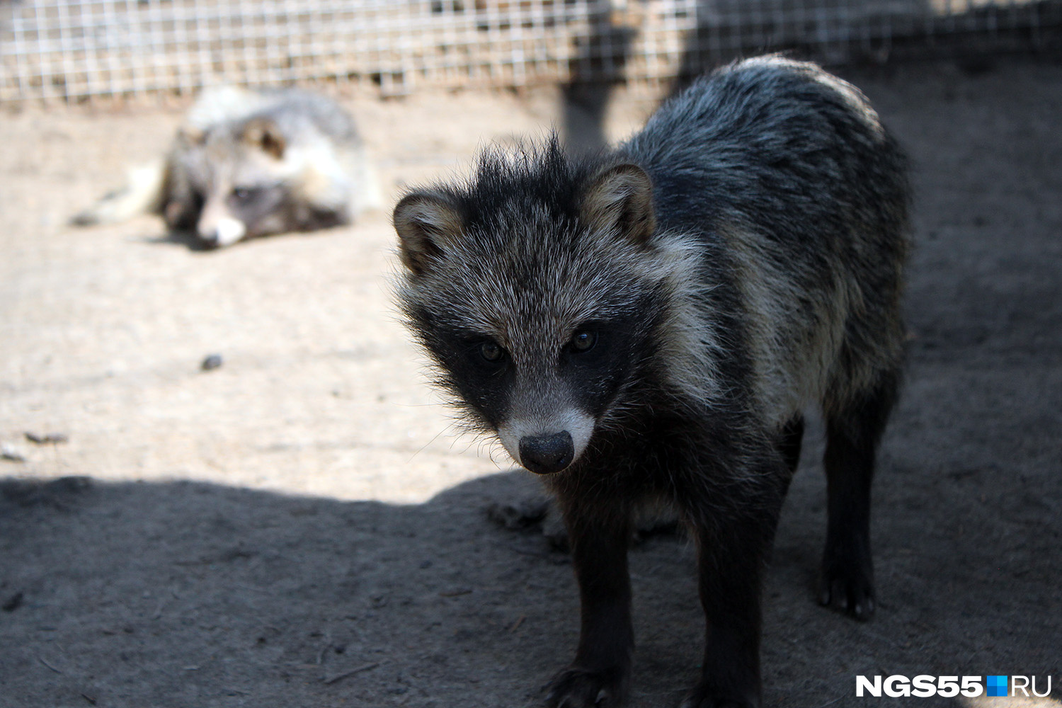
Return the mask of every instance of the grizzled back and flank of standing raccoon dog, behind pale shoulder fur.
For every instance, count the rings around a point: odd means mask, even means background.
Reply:
[[[742,293],[754,388],[782,424],[901,357],[906,159],[855,87],[777,56],[708,74],[620,152],[662,226],[716,241]]]

